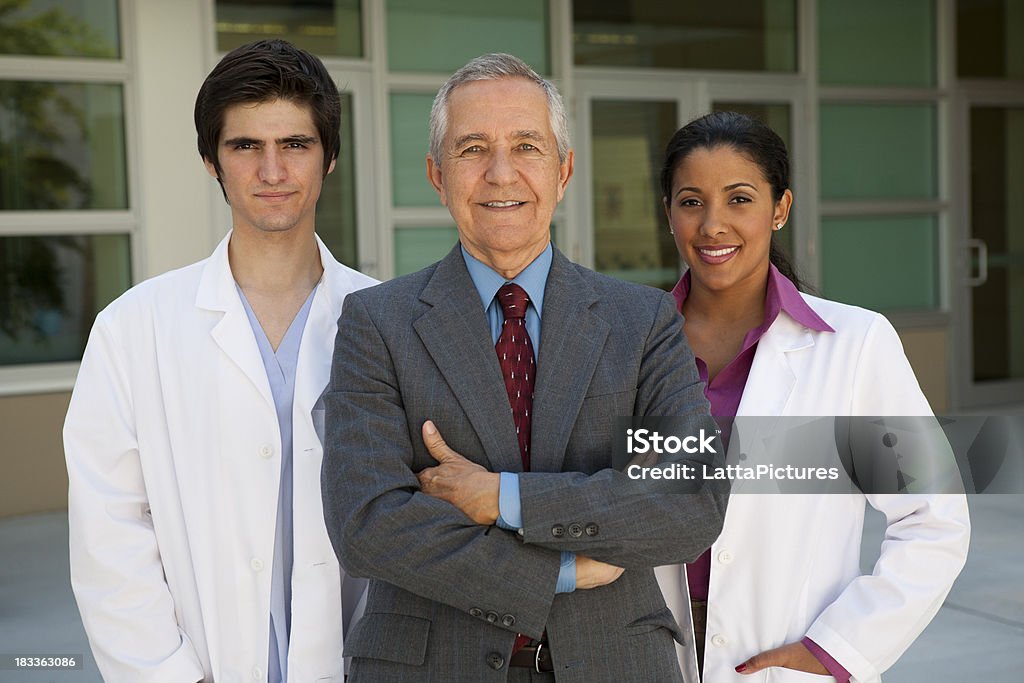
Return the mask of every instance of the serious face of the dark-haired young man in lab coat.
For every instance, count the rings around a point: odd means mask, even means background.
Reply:
[[[324,147],[308,106],[284,99],[229,106],[218,156],[236,230],[313,230]],[[210,160],[206,167],[217,177]]]

